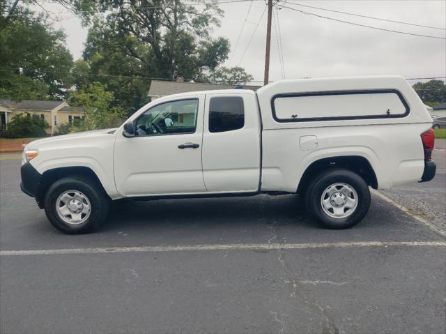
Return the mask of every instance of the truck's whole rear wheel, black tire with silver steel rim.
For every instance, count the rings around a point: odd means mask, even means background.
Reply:
[[[323,227],[348,229],[369,211],[369,186],[348,169],[331,169],[318,174],[309,185],[305,206]]]

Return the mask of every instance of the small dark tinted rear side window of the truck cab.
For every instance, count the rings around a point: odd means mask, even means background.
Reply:
[[[210,99],[209,132],[238,130],[245,126],[245,107],[240,96]]]

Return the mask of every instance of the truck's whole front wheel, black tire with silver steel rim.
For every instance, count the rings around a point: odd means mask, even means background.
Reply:
[[[107,194],[95,181],[71,176],[54,182],[48,188],[45,214],[56,229],[66,234],[84,234],[105,222],[109,202]]]

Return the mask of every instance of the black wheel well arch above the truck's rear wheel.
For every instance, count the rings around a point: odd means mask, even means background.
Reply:
[[[307,189],[310,181],[312,181],[316,174],[323,171],[323,169],[335,167],[350,169],[352,172],[355,172],[361,176],[367,185],[371,186],[371,188],[378,188],[378,180],[376,179],[376,174],[374,169],[371,167],[369,160],[357,155],[348,155],[342,157],[323,158],[313,162],[312,165],[309,165],[309,167],[305,169],[304,174],[302,174],[298,185],[298,192],[302,192],[303,190]]]

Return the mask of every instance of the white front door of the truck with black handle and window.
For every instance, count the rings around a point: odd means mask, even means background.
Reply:
[[[206,192],[201,167],[204,96],[155,105],[134,121],[135,137],[116,135],[114,174],[121,195]]]

